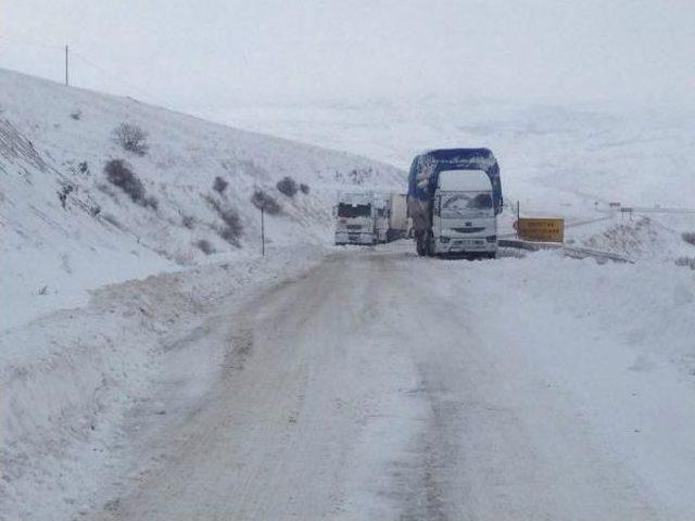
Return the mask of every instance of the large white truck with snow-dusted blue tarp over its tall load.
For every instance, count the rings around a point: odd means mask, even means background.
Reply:
[[[497,254],[503,198],[489,149],[440,149],[417,155],[408,176],[407,212],[420,256]]]

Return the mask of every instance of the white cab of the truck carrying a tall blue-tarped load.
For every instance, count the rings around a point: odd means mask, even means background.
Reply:
[[[483,170],[442,170],[433,203],[430,254],[496,256],[492,183]]]

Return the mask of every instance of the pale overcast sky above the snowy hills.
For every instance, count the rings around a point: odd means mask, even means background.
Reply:
[[[0,66],[61,80],[60,46],[68,42],[75,85],[184,110],[431,94],[543,103],[695,98],[695,0],[0,5]]]

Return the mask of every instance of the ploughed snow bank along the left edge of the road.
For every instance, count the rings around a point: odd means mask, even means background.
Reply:
[[[0,519],[72,519],[86,509],[127,465],[124,415],[162,378],[172,345],[219,298],[298,275],[321,253],[274,247],[263,259],[108,287],[85,308],[2,333]],[[195,361],[201,389],[219,364],[214,351],[204,355]]]

